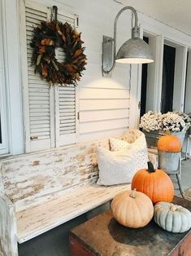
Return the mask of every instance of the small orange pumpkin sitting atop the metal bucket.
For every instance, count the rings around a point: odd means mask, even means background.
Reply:
[[[164,135],[158,139],[158,150],[167,152],[180,152],[182,143],[175,135]]]

